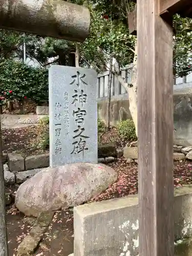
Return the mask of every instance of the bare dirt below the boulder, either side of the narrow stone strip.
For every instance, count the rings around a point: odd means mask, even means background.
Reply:
[[[7,211],[7,231],[9,255],[15,256],[20,242],[29,233],[34,218],[27,218],[19,213],[14,206]],[[73,211],[57,211],[39,248],[33,255],[68,256],[73,252]]]

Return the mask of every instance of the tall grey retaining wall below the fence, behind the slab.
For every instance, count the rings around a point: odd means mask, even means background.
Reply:
[[[131,119],[127,94],[112,96],[110,123],[116,125],[121,120]],[[108,121],[108,97],[98,99],[98,117]],[[174,143],[192,146],[192,90],[174,90]]]

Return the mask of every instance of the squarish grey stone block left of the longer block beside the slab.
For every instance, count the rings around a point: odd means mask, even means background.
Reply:
[[[21,172],[25,170],[25,160],[20,155],[8,154],[8,166],[12,173]]]

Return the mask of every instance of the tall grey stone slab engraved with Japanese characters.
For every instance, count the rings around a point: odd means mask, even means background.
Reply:
[[[97,73],[49,69],[50,166],[97,163]]]

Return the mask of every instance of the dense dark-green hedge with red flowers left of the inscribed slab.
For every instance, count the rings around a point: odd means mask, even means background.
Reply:
[[[0,94],[4,92],[9,100],[28,98],[37,104],[48,102],[48,69],[34,68],[13,59],[2,60]]]

